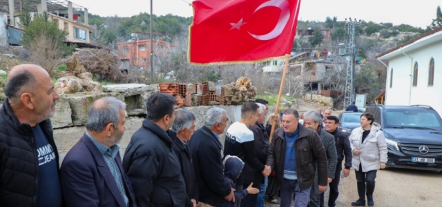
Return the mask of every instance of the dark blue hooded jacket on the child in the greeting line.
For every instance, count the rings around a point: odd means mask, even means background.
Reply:
[[[222,164],[224,165],[224,179],[230,183],[231,188],[235,188],[235,181],[240,177],[241,170],[244,168],[244,162],[236,156],[227,155]],[[247,189],[244,189],[234,194],[235,200],[238,201],[244,198],[248,192]],[[218,207],[234,207],[235,205],[236,203],[234,202],[224,200]]]

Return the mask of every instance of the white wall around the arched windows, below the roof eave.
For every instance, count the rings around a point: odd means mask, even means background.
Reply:
[[[423,104],[432,106],[442,115],[442,41],[407,52],[413,58],[413,63],[405,55],[390,59],[387,71],[385,105],[409,106]],[[434,58],[434,85],[428,86],[430,59]],[[412,86],[412,67],[418,63],[417,86]],[[390,75],[393,70],[392,88]],[[410,87],[411,86],[411,87]],[[410,94],[411,89],[411,94]]]

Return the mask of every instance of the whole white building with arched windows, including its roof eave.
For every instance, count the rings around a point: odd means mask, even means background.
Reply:
[[[388,61],[385,105],[427,105],[442,115],[442,27],[376,57]]]

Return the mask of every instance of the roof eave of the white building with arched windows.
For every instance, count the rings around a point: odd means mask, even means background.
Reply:
[[[394,57],[396,55],[400,55],[401,52],[407,52],[410,50],[414,50],[416,48],[420,48],[421,46],[425,46],[427,44],[433,43],[435,41],[439,41],[441,39],[442,39],[442,27],[439,27],[434,30],[431,30],[430,32],[422,34],[421,36],[416,37],[410,41],[407,41],[407,42],[401,44],[400,46],[397,46],[397,47],[387,50],[379,55],[376,55],[376,58],[389,59],[389,58]],[[398,51],[398,50],[401,50],[401,48],[402,48],[402,51]]]

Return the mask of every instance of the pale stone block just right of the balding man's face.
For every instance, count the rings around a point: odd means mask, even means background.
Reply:
[[[72,126],[72,110],[70,109],[68,99],[60,97],[60,99],[57,100],[55,112],[55,116],[50,119],[50,121],[52,121],[52,128]]]

